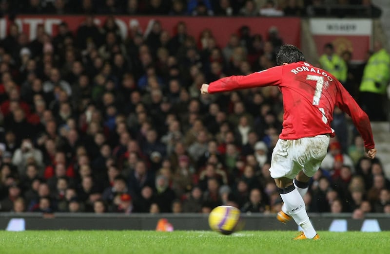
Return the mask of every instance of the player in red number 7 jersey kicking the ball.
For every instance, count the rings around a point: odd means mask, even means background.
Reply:
[[[273,149],[271,176],[284,205],[277,219],[283,223],[293,218],[303,232],[294,239],[318,239],[302,199],[308,181],[324,159],[334,130],[333,110],[337,106],[348,113],[364,140],[367,156],[376,149],[370,120],[341,83],[330,73],[305,62],[295,46],[281,46],[278,66],[246,76],[221,78],[203,84],[202,94],[254,87],[278,86],[283,94],[283,130]]]

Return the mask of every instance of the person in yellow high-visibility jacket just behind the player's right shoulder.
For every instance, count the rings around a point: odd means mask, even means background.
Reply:
[[[322,69],[330,72],[341,83],[347,81],[348,69],[344,60],[334,52],[333,44],[326,43],[324,45],[324,54],[319,58],[319,63]]]

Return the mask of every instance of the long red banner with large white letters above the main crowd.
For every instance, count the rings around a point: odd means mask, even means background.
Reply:
[[[107,17],[96,16],[95,22],[102,25]],[[224,47],[231,34],[237,33],[241,26],[248,26],[251,34],[261,34],[266,38],[268,30],[276,27],[285,43],[300,46],[300,19],[299,18],[245,18],[245,17],[151,17],[151,16],[117,16],[116,22],[120,28],[122,36],[127,36],[130,22],[137,20],[143,31],[146,30],[149,22],[159,20],[162,27],[171,35],[175,34],[175,28],[179,21],[187,24],[189,34],[200,35],[204,29],[210,29],[220,47]],[[15,22],[20,26],[24,33],[27,33],[30,39],[35,38],[37,26],[44,24],[45,30],[51,35],[56,35],[58,24],[62,21],[68,23],[72,31],[76,31],[78,26],[84,21],[85,16],[18,16]],[[6,36],[9,20],[0,19],[0,38]]]

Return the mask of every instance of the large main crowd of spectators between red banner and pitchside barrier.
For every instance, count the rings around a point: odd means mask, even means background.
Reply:
[[[0,211],[278,212],[269,172],[278,88],[199,94],[203,83],[273,67],[277,29],[263,37],[243,26],[227,45],[183,22],[173,36],[158,20],[132,31],[122,39],[112,16],[101,27],[87,16],[77,31],[61,23],[57,36],[39,25],[29,41],[10,24],[0,41]],[[345,114],[334,118],[338,138],[308,210],[390,213],[381,163],[365,158]]]

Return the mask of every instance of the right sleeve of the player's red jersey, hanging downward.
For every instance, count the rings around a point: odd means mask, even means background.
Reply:
[[[359,131],[364,140],[364,146],[367,149],[375,147],[372,136],[370,119],[367,114],[357,105],[349,92],[339,82],[337,84],[336,106],[349,114],[352,118],[353,124]]]

